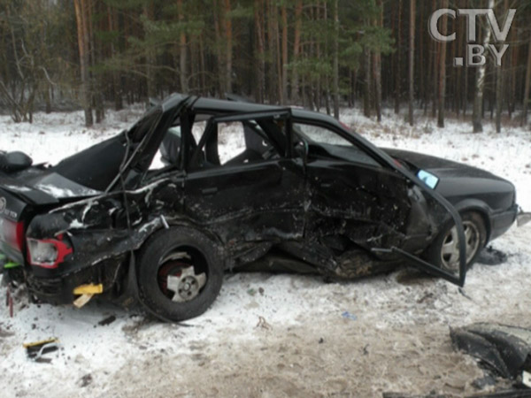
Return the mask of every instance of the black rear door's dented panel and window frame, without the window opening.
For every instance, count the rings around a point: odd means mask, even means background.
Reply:
[[[217,126],[214,127],[216,123],[256,119],[267,122],[279,118],[288,119],[289,111],[212,119],[191,161],[196,164],[195,158],[203,158],[201,152],[206,149],[204,153],[210,160],[204,162],[207,166],[191,170],[185,181],[185,214],[197,223],[209,226],[229,245],[299,239],[303,236],[307,195],[302,159],[291,159],[281,153],[272,159],[238,165],[228,161],[219,165],[217,149],[209,142],[212,137],[218,139]],[[267,124],[262,123],[262,126]],[[246,129],[248,147],[251,142],[249,134],[250,130]]]

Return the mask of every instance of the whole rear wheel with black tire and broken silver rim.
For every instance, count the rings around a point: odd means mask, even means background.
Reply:
[[[178,322],[203,314],[223,281],[219,245],[192,227],[155,233],[142,247],[138,264],[141,300],[164,320]]]

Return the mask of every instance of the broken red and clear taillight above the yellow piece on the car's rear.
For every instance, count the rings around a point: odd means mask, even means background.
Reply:
[[[27,238],[29,263],[42,268],[57,268],[65,260],[65,256],[73,252],[62,238],[62,235],[58,239]]]

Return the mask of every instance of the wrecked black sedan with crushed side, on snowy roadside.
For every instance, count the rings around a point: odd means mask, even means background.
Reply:
[[[173,321],[203,313],[225,270],[350,279],[411,264],[462,286],[528,218],[489,172],[379,149],[316,112],[196,96],[58,165],[0,157],[10,278],[43,302],[103,294]]]

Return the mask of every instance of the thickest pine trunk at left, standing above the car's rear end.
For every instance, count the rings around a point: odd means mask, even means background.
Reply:
[[[78,32],[78,46],[80,52],[81,69],[81,101],[85,111],[85,125],[92,126],[92,106],[90,101],[90,77],[89,77],[89,28],[87,27],[87,0],[74,0],[75,19]]]

